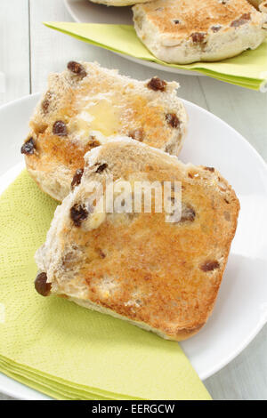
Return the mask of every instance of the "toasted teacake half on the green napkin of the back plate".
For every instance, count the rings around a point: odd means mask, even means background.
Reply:
[[[266,36],[267,15],[247,0],[156,0],[133,11],[137,35],[166,62],[223,60],[255,49]]]

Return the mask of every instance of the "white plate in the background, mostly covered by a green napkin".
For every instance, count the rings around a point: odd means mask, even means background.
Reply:
[[[131,7],[107,7],[102,4],[91,3],[88,0],[64,0],[64,2],[70,16],[77,22],[133,25],[133,12]],[[156,62],[139,60],[138,58],[130,57],[130,55],[122,53],[117,53],[117,55],[137,62],[138,64],[169,73],[183,74],[184,76],[205,76],[196,71],[166,67]]]

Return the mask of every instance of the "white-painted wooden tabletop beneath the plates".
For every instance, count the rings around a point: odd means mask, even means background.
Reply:
[[[47,74],[69,60],[97,60],[125,75],[145,79],[155,71],[45,28],[44,20],[70,21],[62,0],[0,2],[0,72],[6,77],[0,105],[44,89]],[[176,76],[180,96],[221,117],[267,160],[267,93],[251,92],[212,78]],[[266,272],[267,279],[267,272]],[[267,326],[230,365],[205,382],[214,399],[267,399]],[[1,399],[11,399],[0,393]]]

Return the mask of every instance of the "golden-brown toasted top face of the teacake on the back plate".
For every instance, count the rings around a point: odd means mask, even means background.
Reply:
[[[212,28],[227,29],[242,15],[255,12],[247,0],[156,0],[140,7],[160,33],[177,38]],[[250,20],[248,14],[246,19]]]

